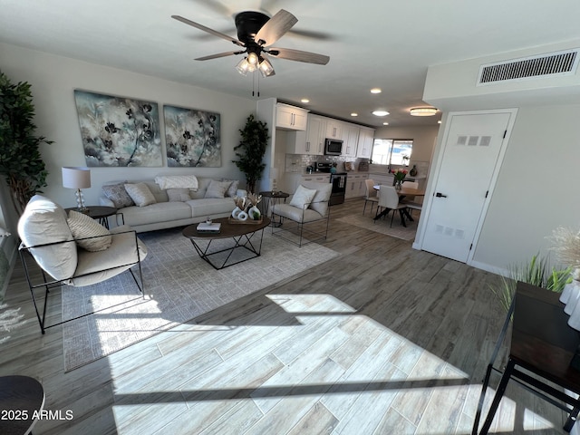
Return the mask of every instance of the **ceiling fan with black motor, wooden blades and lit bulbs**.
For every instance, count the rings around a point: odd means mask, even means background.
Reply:
[[[222,34],[217,30],[210,29],[203,24],[195,23],[180,15],[171,15],[171,18],[241,47],[243,50],[210,54],[208,56],[198,57],[195,60],[208,61],[234,54],[247,54],[236,66],[237,71],[243,75],[256,70],[262,73],[263,77],[274,75],[274,67],[268,60],[269,56],[287,59],[289,61],[316,63],[320,65],[325,65],[330,61],[330,57],[324,54],[303,52],[290,48],[271,47],[273,43],[284,36],[298,22],[298,19],[293,14],[290,14],[284,9],[278,11],[271,18],[266,14],[255,11],[240,12],[235,18],[237,39],[227,34]]]

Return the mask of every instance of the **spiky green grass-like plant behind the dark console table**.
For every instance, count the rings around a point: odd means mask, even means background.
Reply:
[[[536,285],[536,287],[546,288],[551,292],[562,293],[564,286],[572,282],[571,267],[565,269],[550,269],[549,261],[539,255],[532,256],[529,263],[509,268],[509,276],[502,276],[497,287],[492,287],[492,291],[498,296],[499,303],[506,311],[516,294],[517,281]]]

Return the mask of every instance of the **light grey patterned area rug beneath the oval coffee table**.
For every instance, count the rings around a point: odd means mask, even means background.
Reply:
[[[98,285],[63,286],[63,319],[102,309],[63,324],[65,371],[338,256],[332,249],[315,243],[296,247],[272,236],[266,227],[261,256],[215,270],[199,258],[189,239],[181,236],[181,229],[139,235],[149,251],[142,262],[145,297],[140,295],[129,272]]]

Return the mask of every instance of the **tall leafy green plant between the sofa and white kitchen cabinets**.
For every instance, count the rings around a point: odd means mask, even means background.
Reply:
[[[268,127],[266,122],[258,121],[254,115],[247,117],[246,125],[241,133],[242,139],[234,147],[238,160],[236,163],[239,170],[246,174],[246,189],[248,193],[255,193],[256,182],[262,178],[262,172],[266,164],[262,161],[266,154],[268,139]]]

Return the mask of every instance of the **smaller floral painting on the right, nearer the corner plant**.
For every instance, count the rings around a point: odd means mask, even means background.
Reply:
[[[167,166],[221,166],[219,113],[163,106]]]

